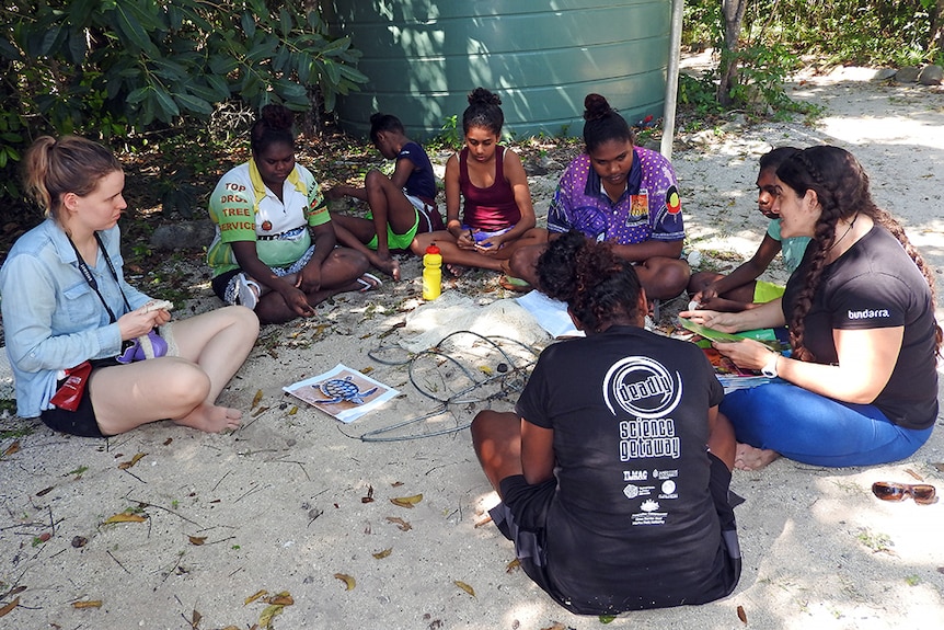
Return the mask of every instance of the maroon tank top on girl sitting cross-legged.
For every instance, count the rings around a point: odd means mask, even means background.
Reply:
[[[465,199],[463,222],[488,232],[509,228],[521,220],[521,210],[515,203],[515,193],[505,181],[505,147],[495,147],[495,183],[480,188],[469,181],[469,148],[459,151],[459,191]]]

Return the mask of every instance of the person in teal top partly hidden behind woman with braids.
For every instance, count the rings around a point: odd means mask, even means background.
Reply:
[[[741,311],[783,296],[784,287],[757,278],[767,271],[778,252],[783,253],[783,264],[792,274],[799,266],[803,252],[809,243],[809,237],[781,238],[780,217],[772,210],[776,194],[776,169],[797,151],[799,149],[794,147],[779,147],[761,156],[757,175],[757,206],[770,219],[767,233],[753,256],[728,275],[716,272],[692,274],[688,288],[694,302],[692,308]]]

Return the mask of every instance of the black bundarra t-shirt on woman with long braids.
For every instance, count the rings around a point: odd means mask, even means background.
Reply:
[[[790,277],[783,313],[790,322],[811,260]],[[874,403],[895,424],[928,428],[937,417],[934,306],[928,282],[901,243],[880,226],[827,265],[804,321],[804,346],[816,363],[834,364],[836,330],[905,327],[891,378]]]

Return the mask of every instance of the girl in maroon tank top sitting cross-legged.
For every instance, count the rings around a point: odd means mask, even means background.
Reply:
[[[439,248],[446,268],[500,271],[519,248],[544,240],[534,229],[528,175],[518,154],[498,144],[505,114],[502,100],[484,88],[469,94],[462,113],[465,147],[446,162],[446,230],[419,234],[413,251]],[[462,220],[459,207],[464,199]]]

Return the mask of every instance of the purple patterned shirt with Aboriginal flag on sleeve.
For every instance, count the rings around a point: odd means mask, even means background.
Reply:
[[[571,162],[557,184],[548,213],[548,229],[576,229],[598,241],[621,245],[649,239],[681,240],[686,230],[675,170],[660,153],[635,147],[626,191],[613,203],[590,157],[584,153]]]

